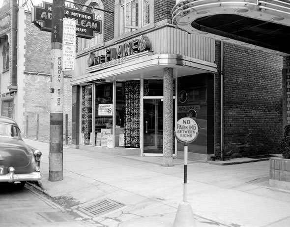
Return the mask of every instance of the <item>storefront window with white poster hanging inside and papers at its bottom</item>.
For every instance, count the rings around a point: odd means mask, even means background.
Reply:
[[[113,83],[95,85],[95,146],[113,145]]]

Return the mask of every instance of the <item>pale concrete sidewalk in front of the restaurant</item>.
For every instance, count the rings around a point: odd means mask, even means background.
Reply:
[[[64,179],[50,182],[49,144],[24,140],[43,153],[43,191],[68,211],[99,227],[173,225],[183,200],[183,160],[164,167],[159,157],[113,156],[64,146]],[[269,161],[216,165],[189,160],[187,198],[195,226],[290,226],[290,193],[271,189],[268,177]],[[109,204],[105,211],[96,208],[101,200]]]

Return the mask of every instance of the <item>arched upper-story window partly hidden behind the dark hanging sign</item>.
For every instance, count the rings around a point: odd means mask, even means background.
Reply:
[[[91,13],[94,13],[94,18],[96,20],[102,21],[102,33],[95,33],[94,37],[91,39],[86,38],[78,38],[78,51],[87,49],[91,46],[95,46],[97,44],[103,43],[104,41],[104,12],[97,10],[95,8],[104,9],[103,3],[101,0],[87,0],[86,5],[90,7],[85,7],[83,10],[87,10]],[[94,7],[94,8],[91,8]]]

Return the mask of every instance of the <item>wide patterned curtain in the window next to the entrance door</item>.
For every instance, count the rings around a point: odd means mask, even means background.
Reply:
[[[125,82],[124,146],[140,148],[140,81]]]

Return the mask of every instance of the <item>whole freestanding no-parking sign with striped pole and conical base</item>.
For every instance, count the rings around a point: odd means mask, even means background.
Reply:
[[[177,121],[174,135],[176,139],[183,143],[184,149],[184,177],[183,177],[183,202],[179,204],[174,219],[174,227],[193,227],[194,218],[191,205],[187,202],[187,157],[188,144],[198,137],[198,125],[192,118],[185,117]]]

